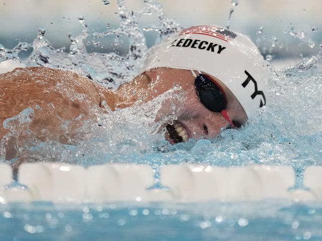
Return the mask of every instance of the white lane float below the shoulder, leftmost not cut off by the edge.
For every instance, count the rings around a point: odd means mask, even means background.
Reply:
[[[19,183],[26,185],[33,200],[65,202],[85,197],[85,168],[61,163],[28,163],[19,168]]]

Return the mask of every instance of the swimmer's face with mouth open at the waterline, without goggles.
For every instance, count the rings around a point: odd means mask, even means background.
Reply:
[[[194,84],[195,77],[190,70],[156,68],[145,71],[144,74],[150,79],[148,84],[148,99],[152,99],[173,88],[174,83],[180,84],[186,93],[187,99],[184,101],[183,108],[178,113],[178,120],[172,127],[167,127],[168,132],[166,138],[171,143],[187,141],[190,138],[199,139],[204,137],[213,139],[220,134],[222,128],[226,128],[229,125],[228,121],[220,113],[208,110],[200,102]],[[214,76],[210,77],[221,85],[226,94],[226,112],[230,119],[236,126],[238,124],[244,125],[247,122],[247,115],[236,97],[218,79]],[[169,106],[165,105],[159,110],[159,116],[171,114],[170,111]]]

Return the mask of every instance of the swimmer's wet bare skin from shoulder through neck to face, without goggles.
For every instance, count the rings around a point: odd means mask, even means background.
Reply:
[[[219,80],[216,81],[221,84]],[[106,113],[107,110],[102,104],[104,100],[112,110],[129,107],[136,101],[147,102],[165,93],[173,88],[174,82],[181,85],[186,92],[187,99],[179,112],[178,121],[189,133],[189,138],[212,139],[218,136],[220,129],[226,127],[228,122],[220,113],[211,112],[202,105],[197,97],[190,70],[171,68],[145,71],[116,90],[107,89],[70,71],[44,67],[16,68],[0,75],[0,123],[19,114],[23,109],[38,105],[42,111],[38,113],[35,110],[30,125],[36,137],[41,141],[55,140],[72,144],[74,134],[68,134],[60,128],[63,121],[78,116],[79,122],[73,122],[71,127],[75,129],[86,120],[95,120],[96,113]],[[240,124],[245,124],[245,111],[233,94],[221,85],[228,100],[228,116]],[[93,107],[97,107],[98,112],[92,111]],[[171,112],[165,104],[159,110],[156,121],[167,114]],[[44,129],[47,130],[45,133],[42,132]],[[7,133],[8,130],[1,126],[0,139]],[[169,140],[169,137],[166,138]]]

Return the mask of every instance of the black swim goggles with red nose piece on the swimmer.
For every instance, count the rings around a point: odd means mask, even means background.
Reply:
[[[227,97],[222,87],[213,78],[202,74],[200,71],[198,71],[198,75],[193,70],[191,70],[191,73],[195,77],[196,92],[200,102],[210,111],[220,113],[230,127],[234,128],[235,126],[225,110]]]

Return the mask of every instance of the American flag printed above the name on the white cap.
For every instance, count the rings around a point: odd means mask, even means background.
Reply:
[[[237,37],[237,35],[234,32],[231,32],[227,29],[223,29],[216,26],[207,26],[207,25],[194,26],[189,29],[184,29],[183,31],[180,32],[179,35],[184,35],[184,34],[202,34],[202,35],[215,37],[226,42],[229,42],[230,40]]]

